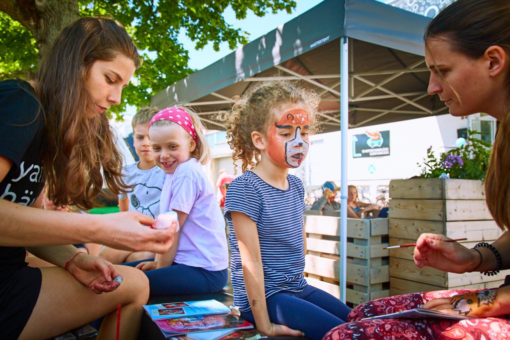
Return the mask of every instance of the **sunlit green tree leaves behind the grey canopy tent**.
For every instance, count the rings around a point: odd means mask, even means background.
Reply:
[[[111,15],[122,23],[143,58],[142,67],[135,73],[135,84],[125,88],[123,102],[111,108],[117,115],[125,111],[126,104],[148,105],[152,94],[194,71],[188,67],[188,52],[177,39],[181,30],[196,43],[197,49],[212,43],[219,50],[222,42],[234,49],[247,43],[248,36],[225,22],[223,13],[228,6],[238,19],[245,18],[248,11],[257,16],[269,11],[291,13],[296,6],[294,0],[77,0],[77,3],[82,16]],[[0,78],[34,71],[35,41],[3,12],[0,12],[0,48]]]

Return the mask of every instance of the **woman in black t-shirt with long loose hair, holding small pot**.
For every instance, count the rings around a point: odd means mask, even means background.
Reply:
[[[37,198],[45,182],[55,204],[83,209],[94,206],[103,178],[113,194],[129,189],[120,175],[121,156],[104,111],[120,103],[122,89],[138,66],[136,46],[119,23],[87,17],[59,34],[34,87],[22,81],[0,83],[4,338],[44,339],[107,315],[98,338],[112,339],[118,304],[120,336],[137,336],[141,305],[149,293],[145,275],[78,252],[70,244],[163,253],[172,244],[174,229],[144,227],[155,221],[133,212],[94,216],[34,207],[40,207]],[[27,267],[26,250],[56,267]]]

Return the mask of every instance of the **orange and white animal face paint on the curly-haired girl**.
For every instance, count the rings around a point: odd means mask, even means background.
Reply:
[[[294,108],[276,119],[268,130],[269,158],[282,167],[297,168],[308,153],[308,111]]]

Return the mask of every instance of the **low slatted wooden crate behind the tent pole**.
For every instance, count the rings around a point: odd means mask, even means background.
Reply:
[[[305,276],[340,297],[340,218],[304,216],[307,232]],[[389,296],[388,219],[347,219],[347,290],[351,305]]]

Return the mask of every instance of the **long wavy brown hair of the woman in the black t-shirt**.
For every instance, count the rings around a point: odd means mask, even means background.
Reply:
[[[97,113],[85,88],[95,61],[119,55],[139,67],[137,48],[117,21],[83,17],[67,25],[43,57],[36,93],[45,122],[43,171],[48,197],[56,205],[92,208],[103,188],[103,174],[113,195],[126,192],[122,157],[108,117]]]

